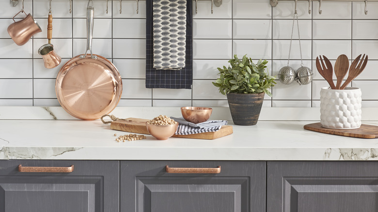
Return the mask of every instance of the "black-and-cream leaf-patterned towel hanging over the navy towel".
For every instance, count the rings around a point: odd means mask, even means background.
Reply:
[[[187,0],[153,0],[154,68],[185,67]]]

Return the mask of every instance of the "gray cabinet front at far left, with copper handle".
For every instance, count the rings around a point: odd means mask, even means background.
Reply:
[[[18,165],[74,171],[19,172]],[[0,212],[119,212],[119,162],[0,161]]]

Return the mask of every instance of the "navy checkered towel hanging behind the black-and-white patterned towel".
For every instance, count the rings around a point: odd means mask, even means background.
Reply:
[[[154,68],[154,2],[146,0],[146,88],[191,89],[192,87],[192,1],[186,1],[185,67],[180,70],[165,70]]]

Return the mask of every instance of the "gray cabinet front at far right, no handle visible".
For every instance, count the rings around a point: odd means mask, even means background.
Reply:
[[[378,212],[377,162],[268,162],[267,212]]]

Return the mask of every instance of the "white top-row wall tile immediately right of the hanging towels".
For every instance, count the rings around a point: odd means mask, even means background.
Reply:
[[[232,0],[222,0],[222,5],[216,7],[213,5],[214,13],[211,14],[211,1],[198,1],[198,14],[195,13],[195,1],[193,1],[193,19],[196,18],[231,18],[232,17]]]

